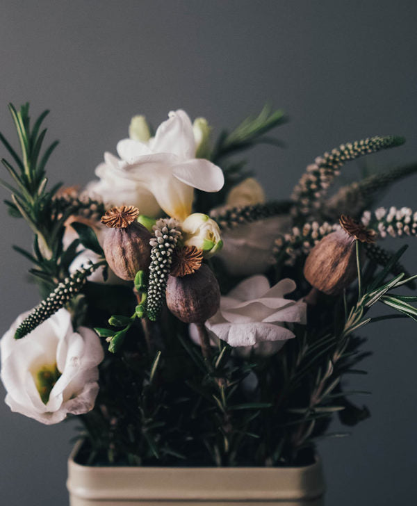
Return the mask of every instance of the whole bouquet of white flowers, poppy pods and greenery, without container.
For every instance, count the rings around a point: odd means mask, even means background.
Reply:
[[[414,318],[415,279],[381,245],[416,236],[417,212],[375,209],[403,165],[329,188],[359,156],[403,138],[348,142],[316,158],[291,199],[265,202],[236,154],[286,121],[264,108],[211,141],[204,118],[170,113],[154,131],[133,117],[82,190],[49,188],[42,113],[10,105],[21,154],[8,151],[10,213],[28,222],[42,302],[1,338],[13,411],[81,422],[79,462],[131,466],[309,464],[338,416],[369,416],[342,379],[362,327]],[[373,210],[374,209],[374,210]],[[375,304],[391,310],[372,316]]]

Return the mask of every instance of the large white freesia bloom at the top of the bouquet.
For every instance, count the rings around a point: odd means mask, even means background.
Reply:
[[[124,139],[116,158],[104,155],[96,169],[100,181],[90,183],[88,193],[99,195],[106,205],[131,204],[140,213],[156,216],[159,208],[177,220],[191,213],[194,188],[217,192],[224,183],[222,170],[196,156],[193,125],[184,111],[169,119],[147,142]]]

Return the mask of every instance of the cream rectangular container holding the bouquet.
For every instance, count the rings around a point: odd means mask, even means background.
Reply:
[[[297,468],[90,467],[68,460],[70,506],[323,506],[320,460]]]

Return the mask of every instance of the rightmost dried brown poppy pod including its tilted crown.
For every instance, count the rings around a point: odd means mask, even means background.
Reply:
[[[304,265],[304,277],[327,295],[337,295],[357,278],[355,240],[373,243],[375,232],[352,218],[341,216],[341,229],[320,240]]]

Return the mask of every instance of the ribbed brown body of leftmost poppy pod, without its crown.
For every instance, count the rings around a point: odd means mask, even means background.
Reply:
[[[103,249],[115,275],[131,281],[138,270],[147,270],[151,261],[150,232],[138,222],[124,229],[108,229]]]

